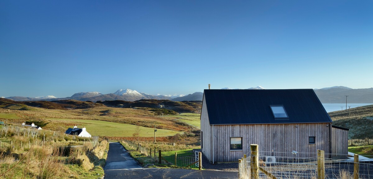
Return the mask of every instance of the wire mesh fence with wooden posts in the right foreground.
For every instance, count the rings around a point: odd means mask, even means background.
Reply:
[[[256,175],[258,178],[265,179],[373,179],[373,160],[358,155],[338,154],[338,159],[334,159],[326,156],[335,156],[335,154],[324,154],[323,151],[322,153],[257,151],[247,156],[249,157],[239,160],[240,178],[251,178],[252,175]]]

